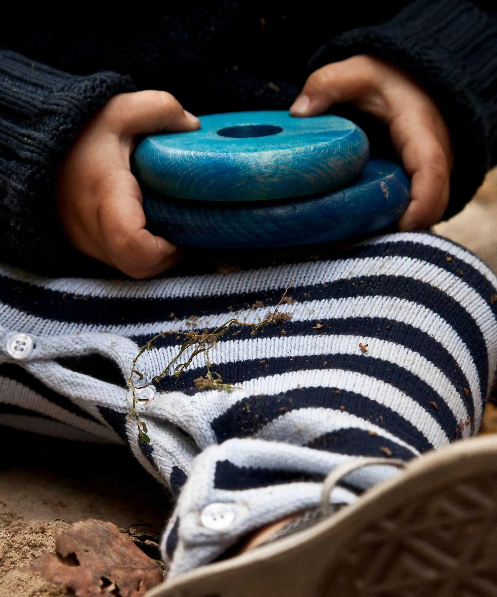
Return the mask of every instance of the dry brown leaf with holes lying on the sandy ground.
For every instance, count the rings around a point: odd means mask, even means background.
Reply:
[[[55,549],[57,555],[42,553],[31,568],[76,597],[141,597],[162,582],[158,562],[110,522],[76,522],[58,531]]]

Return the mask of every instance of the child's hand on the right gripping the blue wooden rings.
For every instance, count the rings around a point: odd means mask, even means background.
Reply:
[[[434,101],[393,64],[354,56],[313,72],[290,111],[294,116],[314,116],[342,101],[390,127],[394,147],[411,176],[411,202],[399,221],[400,229],[438,221],[449,201],[453,156],[449,131]]]

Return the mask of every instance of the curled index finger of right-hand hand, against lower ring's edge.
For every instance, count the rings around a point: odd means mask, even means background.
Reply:
[[[391,127],[391,134],[411,177],[411,201],[399,228],[415,230],[431,226],[443,216],[449,202],[450,164],[443,134],[436,127],[419,115],[402,121]]]

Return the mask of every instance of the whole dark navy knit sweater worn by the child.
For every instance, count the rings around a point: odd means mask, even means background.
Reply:
[[[495,3],[482,4],[356,0],[302,10],[284,0],[192,0],[107,16],[90,2],[78,19],[56,20],[44,8],[23,10],[22,35],[0,34],[2,260],[95,276],[95,262],[63,239],[53,189],[67,149],[113,95],[162,89],[197,115],[286,110],[311,70],[359,53],[403,67],[436,101],[455,152],[447,215],[455,213],[497,161],[497,17]],[[379,121],[344,115],[378,155],[393,152]]]

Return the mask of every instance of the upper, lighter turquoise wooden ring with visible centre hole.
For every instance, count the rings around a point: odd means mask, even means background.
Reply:
[[[231,112],[201,121],[197,131],[141,141],[134,156],[140,181],[197,201],[285,199],[349,183],[369,155],[365,133],[339,116]]]

